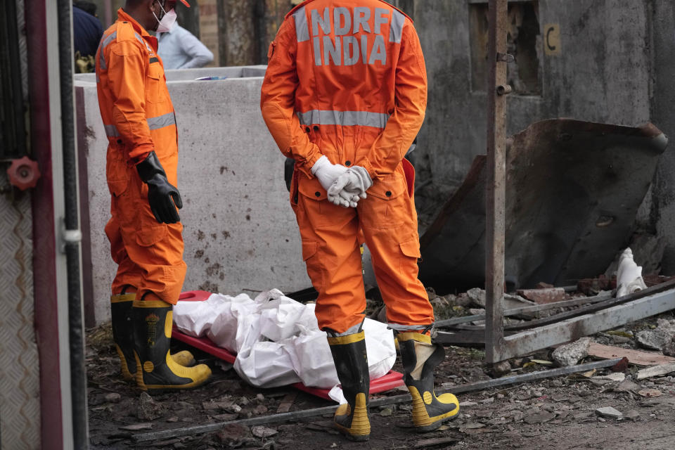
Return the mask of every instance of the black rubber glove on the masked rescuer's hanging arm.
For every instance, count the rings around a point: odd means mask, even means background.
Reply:
[[[181,221],[176,211],[183,207],[181,193],[167,180],[167,173],[160,164],[155,152],[150,152],[148,158],[136,165],[141,180],[148,185],[148,203],[150,210],[155,214],[160,224],[175,224]],[[175,203],[175,205],[174,205]]]

